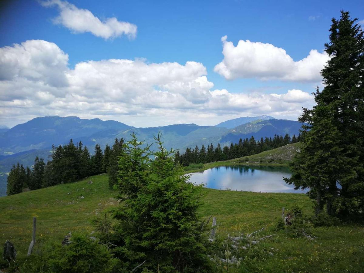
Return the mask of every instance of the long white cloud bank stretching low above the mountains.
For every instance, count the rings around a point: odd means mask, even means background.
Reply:
[[[43,40],[0,48],[0,56],[0,124],[44,115],[115,119],[135,126],[216,124],[220,118],[260,114],[295,119],[301,106],[313,103],[312,95],[295,89],[285,94],[213,90],[198,62],[108,59],[70,69],[68,55]]]

